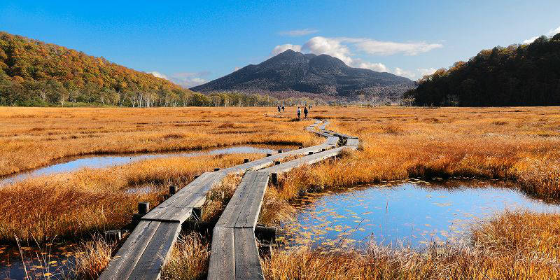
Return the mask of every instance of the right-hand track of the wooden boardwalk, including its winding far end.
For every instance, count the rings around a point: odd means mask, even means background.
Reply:
[[[262,267],[255,239],[255,225],[260,214],[262,199],[265,195],[269,175],[272,174],[274,183],[278,174],[288,172],[302,165],[312,165],[321,160],[338,155],[342,149],[358,148],[357,138],[355,145],[335,148],[339,138],[324,132],[324,123],[321,121],[306,128],[309,132],[323,135],[327,138],[325,146],[328,150],[321,149],[316,153],[284,162],[280,165],[267,167],[258,172],[247,172],[239,184],[232,200],[225,207],[212,235],[210,265],[208,269],[209,280],[248,279],[263,280]],[[323,127],[323,128],[321,128]],[[344,139],[346,140],[346,139]]]

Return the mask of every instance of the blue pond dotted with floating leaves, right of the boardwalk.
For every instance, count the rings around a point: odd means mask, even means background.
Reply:
[[[311,193],[295,207],[296,220],[283,225],[288,247],[363,248],[374,241],[418,248],[430,242],[467,241],[472,223],[506,209],[560,213],[559,205],[497,181],[358,186]]]

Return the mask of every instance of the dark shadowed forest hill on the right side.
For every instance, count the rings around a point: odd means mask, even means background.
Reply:
[[[560,105],[560,34],[482,50],[424,76],[403,98],[419,106]]]

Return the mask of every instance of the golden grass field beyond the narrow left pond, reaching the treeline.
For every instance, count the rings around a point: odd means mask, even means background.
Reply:
[[[0,107],[0,176],[76,155],[322,141],[303,130],[311,120],[295,126],[271,110]]]

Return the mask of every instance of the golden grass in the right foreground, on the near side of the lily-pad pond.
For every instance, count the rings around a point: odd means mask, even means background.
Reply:
[[[474,246],[426,251],[377,244],[365,251],[300,247],[272,251],[262,266],[268,280],[559,279],[559,221],[557,214],[505,213],[473,229]]]

